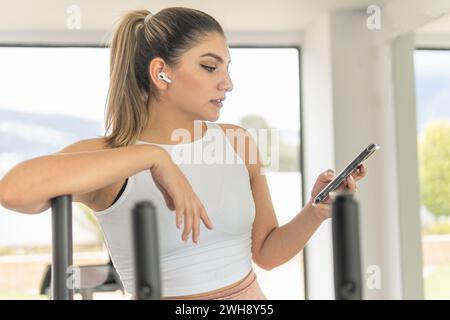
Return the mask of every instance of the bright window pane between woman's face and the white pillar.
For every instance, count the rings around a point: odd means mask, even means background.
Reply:
[[[228,93],[219,122],[278,132],[279,163],[276,168],[268,168],[266,178],[281,226],[302,209],[299,51],[233,48],[230,54],[234,89]],[[270,271],[256,265],[254,270],[268,299],[304,299],[303,252]]]

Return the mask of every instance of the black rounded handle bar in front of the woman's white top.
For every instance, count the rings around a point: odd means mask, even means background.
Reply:
[[[161,299],[161,280],[156,209],[149,201],[138,202],[132,211],[135,297]]]

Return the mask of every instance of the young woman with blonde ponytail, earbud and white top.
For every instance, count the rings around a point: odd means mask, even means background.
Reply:
[[[255,142],[239,126],[214,123],[233,84],[224,32],[204,12],[127,13],[114,32],[110,62],[105,136],[18,164],[0,183],[2,205],[38,213],[53,197],[72,194],[94,210],[133,294],[130,211],[150,200],[165,299],[265,299],[252,260],[270,270],[303,249],[330,217],[329,199],[316,206],[311,199],[334,172],[321,173],[307,205],[278,225]],[[207,150],[216,159],[237,157],[205,161]],[[354,192],[365,174],[361,166],[340,189]]]

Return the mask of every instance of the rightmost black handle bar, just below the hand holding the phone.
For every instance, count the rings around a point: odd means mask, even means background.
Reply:
[[[361,300],[358,203],[352,193],[336,195],[332,204],[334,290],[336,300]]]

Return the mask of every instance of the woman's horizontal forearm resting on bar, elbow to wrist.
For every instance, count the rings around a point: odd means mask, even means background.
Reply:
[[[59,152],[25,160],[1,179],[1,204],[21,213],[39,213],[50,199],[87,194],[151,168],[162,151],[149,145],[83,152]]]

